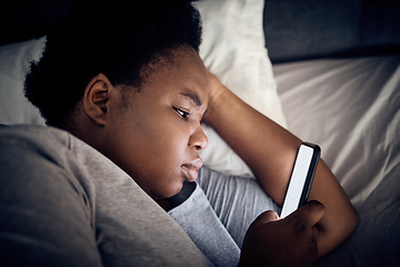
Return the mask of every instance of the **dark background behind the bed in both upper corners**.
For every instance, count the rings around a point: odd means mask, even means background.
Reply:
[[[400,55],[400,0],[266,0],[272,62]],[[0,0],[0,44],[47,34],[72,0]]]

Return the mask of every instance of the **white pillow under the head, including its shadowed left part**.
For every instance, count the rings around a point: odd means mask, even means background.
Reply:
[[[200,56],[237,96],[287,127],[272,66],[264,48],[262,0],[202,0]],[[0,123],[43,123],[39,110],[23,96],[30,60],[37,60],[46,38],[0,47]],[[209,146],[201,151],[204,166],[228,175],[252,176],[248,166],[210,127],[203,126]]]

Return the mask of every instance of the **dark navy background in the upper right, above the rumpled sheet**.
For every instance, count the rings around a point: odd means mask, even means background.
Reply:
[[[400,0],[266,0],[272,62],[400,53]]]

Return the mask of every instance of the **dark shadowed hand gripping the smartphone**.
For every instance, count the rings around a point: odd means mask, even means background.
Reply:
[[[320,202],[310,201],[281,220],[272,210],[261,214],[246,234],[239,266],[313,265],[318,258],[316,224],[324,211]]]

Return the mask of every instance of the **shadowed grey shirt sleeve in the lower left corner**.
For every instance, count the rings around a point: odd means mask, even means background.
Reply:
[[[101,266],[91,201],[73,171],[27,140],[0,147],[0,265]]]

